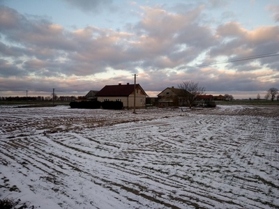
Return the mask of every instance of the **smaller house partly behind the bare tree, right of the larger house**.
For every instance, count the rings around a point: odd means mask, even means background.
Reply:
[[[186,106],[185,91],[183,89],[172,86],[172,88],[167,87],[158,94],[158,107],[181,106]]]

